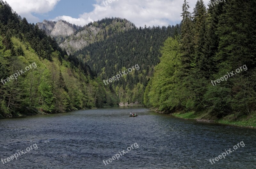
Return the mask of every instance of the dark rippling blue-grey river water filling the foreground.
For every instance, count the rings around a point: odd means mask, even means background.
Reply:
[[[131,111],[138,117],[130,118]],[[211,164],[210,158],[240,142]],[[20,152],[17,159],[0,161],[0,169],[256,169],[255,143],[256,129],[251,128],[139,107],[81,110],[0,120],[0,158]],[[28,147],[34,150],[22,154]],[[106,163],[119,152],[118,160]]]

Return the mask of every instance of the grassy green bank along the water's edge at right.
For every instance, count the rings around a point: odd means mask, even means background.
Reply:
[[[208,113],[195,113],[194,111],[187,113],[173,113],[175,117],[183,119],[196,119],[201,121],[212,121],[221,124],[242,126],[242,127],[253,127],[256,128],[256,113],[252,113],[247,116],[242,116],[239,118],[235,117],[235,114],[225,116],[221,119],[212,118]]]

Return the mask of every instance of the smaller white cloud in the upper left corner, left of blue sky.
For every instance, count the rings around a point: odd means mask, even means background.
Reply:
[[[6,0],[13,11],[34,23],[40,20],[33,16],[32,13],[43,14],[52,11],[59,1],[60,0]]]

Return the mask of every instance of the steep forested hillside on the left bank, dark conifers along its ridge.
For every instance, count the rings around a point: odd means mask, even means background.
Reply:
[[[118,103],[86,63],[8,4],[0,4],[0,69],[0,118]]]

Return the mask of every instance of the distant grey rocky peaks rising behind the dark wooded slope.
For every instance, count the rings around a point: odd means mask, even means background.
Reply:
[[[106,40],[116,33],[135,27],[128,20],[120,18],[105,18],[83,27],[63,20],[57,22],[44,20],[38,22],[37,25],[47,35],[53,37],[68,55],[83,49],[90,43]]]

